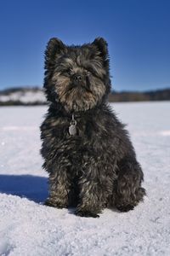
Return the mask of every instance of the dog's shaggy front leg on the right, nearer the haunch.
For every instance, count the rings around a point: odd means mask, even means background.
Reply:
[[[97,218],[105,208],[107,198],[112,193],[112,180],[105,175],[104,170],[102,160],[88,157],[88,165],[83,168],[78,182],[78,216]]]

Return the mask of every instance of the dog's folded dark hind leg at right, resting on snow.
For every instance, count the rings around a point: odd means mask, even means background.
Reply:
[[[125,158],[119,162],[116,180],[116,208],[128,212],[143,201],[145,190],[141,187],[143,172],[139,163],[133,158]]]

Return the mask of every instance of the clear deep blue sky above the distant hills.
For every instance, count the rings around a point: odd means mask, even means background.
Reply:
[[[170,1],[0,1],[0,89],[42,85],[49,38],[109,44],[115,90],[170,87]]]

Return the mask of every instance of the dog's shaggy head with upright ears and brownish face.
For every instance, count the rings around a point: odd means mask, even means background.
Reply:
[[[66,111],[86,111],[101,103],[111,89],[107,43],[66,46],[51,38],[45,52],[44,87],[49,102]]]

